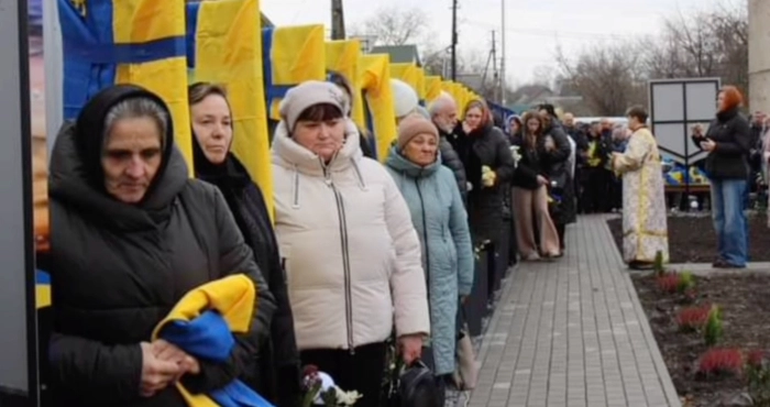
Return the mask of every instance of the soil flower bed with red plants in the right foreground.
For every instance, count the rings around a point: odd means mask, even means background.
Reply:
[[[770,406],[770,274],[681,276],[631,278],[683,406]]]

